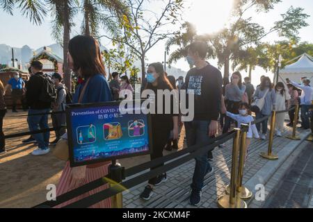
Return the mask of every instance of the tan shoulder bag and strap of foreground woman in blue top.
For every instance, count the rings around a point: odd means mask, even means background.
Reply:
[[[85,94],[86,87],[89,83],[90,78],[88,78],[86,84],[83,86],[83,89],[81,90],[81,94],[79,96],[78,103],[81,103],[83,100],[83,95]],[[56,147],[54,148],[54,156],[57,157],[60,160],[67,161],[69,160],[69,147],[67,143],[67,139],[61,138],[58,143],[56,144]]]

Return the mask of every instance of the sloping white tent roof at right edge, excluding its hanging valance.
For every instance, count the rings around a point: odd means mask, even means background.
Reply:
[[[280,70],[280,74],[313,74],[312,57],[304,53],[297,62],[287,65]]]

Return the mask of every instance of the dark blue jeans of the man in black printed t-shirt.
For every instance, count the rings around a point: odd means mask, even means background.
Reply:
[[[203,142],[209,142],[209,123],[210,121],[191,121],[185,122],[187,146],[193,146]],[[195,171],[193,172],[193,182],[191,188],[201,191],[204,176],[211,171],[211,164],[207,160],[207,152],[195,157]]]

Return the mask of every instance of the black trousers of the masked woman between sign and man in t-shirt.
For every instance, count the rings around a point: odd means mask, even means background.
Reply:
[[[152,153],[150,154],[151,160],[155,160],[159,157],[163,157],[163,148],[168,143],[168,138],[170,137],[170,128],[161,128],[155,127],[152,129]],[[162,167],[163,164],[159,164],[156,167],[152,167],[151,169],[156,169],[158,167]],[[154,185],[156,183],[157,177],[151,178],[149,180],[150,185]]]

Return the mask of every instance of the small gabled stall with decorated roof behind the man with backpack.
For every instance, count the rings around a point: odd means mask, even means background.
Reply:
[[[49,47],[45,46],[42,51],[31,58],[31,62],[33,60],[39,60],[42,62],[42,72],[44,74],[53,74],[54,72],[58,72],[63,75],[63,60],[56,56],[56,54],[54,54]]]

